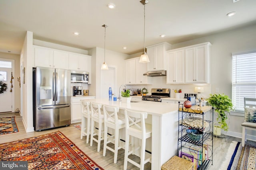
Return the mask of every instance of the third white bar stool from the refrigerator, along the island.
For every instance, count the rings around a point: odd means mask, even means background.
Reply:
[[[124,115],[118,114],[119,107],[112,106],[103,106],[104,113],[104,147],[103,147],[103,156],[106,156],[106,149],[114,152],[114,164],[117,162],[118,149],[121,149],[121,146],[118,146],[119,141],[119,129],[125,128],[125,119]],[[108,127],[114,129],[114,136],[108,136]],[[112,138],[108,140],[108,137]],[[108,147],[107,144],[114,142],[114,149]]]

